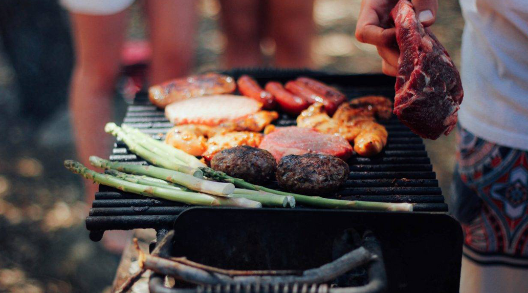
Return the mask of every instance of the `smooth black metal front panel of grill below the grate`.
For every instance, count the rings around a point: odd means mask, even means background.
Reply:
[[[351,228],[378,238],[387,292],[458,292],[462,233],[445,213],[197,207],[178,217],[165,253],[228,269],[305,270],[341,256]]]

